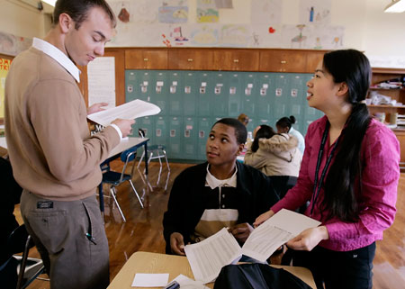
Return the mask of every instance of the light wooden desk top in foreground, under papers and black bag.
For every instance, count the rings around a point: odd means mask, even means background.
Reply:
[[[307,268],[299,266],[272,266],[283,268],[301,278],[302,281],[309,284],[312,288],[316,288],[311,271]],[[135,252],[112,280],[108,289],[141,288],[130,286],[136,273],[168,273],[169,281],[173,280],[180,274],[193,278],[193,271],[186,257],[149,252]],[[206,286],[213,288],[213,283],[206,284]]]

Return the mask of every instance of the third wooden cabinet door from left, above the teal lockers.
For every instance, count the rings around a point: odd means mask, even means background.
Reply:
[[[213,70],[258,71],[258,50],[214,50]]]

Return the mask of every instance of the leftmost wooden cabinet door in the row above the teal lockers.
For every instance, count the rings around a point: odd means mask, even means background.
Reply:
[[[125,50],[125,69],[167,69],[166,49]]]

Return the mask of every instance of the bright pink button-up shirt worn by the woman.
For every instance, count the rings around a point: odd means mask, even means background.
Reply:
[[[312,122],[305,136],[305,152],[297,185],[272,207],[274,212],[282,208],[295,210],[311,201],[318,153],[327,117]],[[325,167],[332,146],[329,137],[320,164],[320,174]],[[324,198],[323,187],[311,214],[311,218],[322,222],[329,231],[329,239],[322,240],[320,247],[336,251],[349,251],[363,248],[377,239],[383,239],[383,230],[392,225],[397,200],[398,180],[400,178],[400,145],[395,134],[383,123],[372,120],[362,143],[362,193],[357,194],[360,219],[356,222],[340,221],[338,218],[326,219],[328,212],[320,211]],[[336,156],[336,153],[335,153]],[[333,159],[332,159],[333,164]],[[327,174],[328,175],[328,174]],[[325,179],[327,176],[325,176]],[[310,216],[311,206],[305,212]]]

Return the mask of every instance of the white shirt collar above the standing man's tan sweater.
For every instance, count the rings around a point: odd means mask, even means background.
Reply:
[[[67,70],[67,72],[75,77],[77,82],[80,82],[80,70],[76,67],[75,63],[70,60],[65,53],[53,46],[47,41],[42,41],[39,38],[34,38],[32,41],[32,47],[42,51],[49,55],[52,59],[55,59],[58,64]]]

